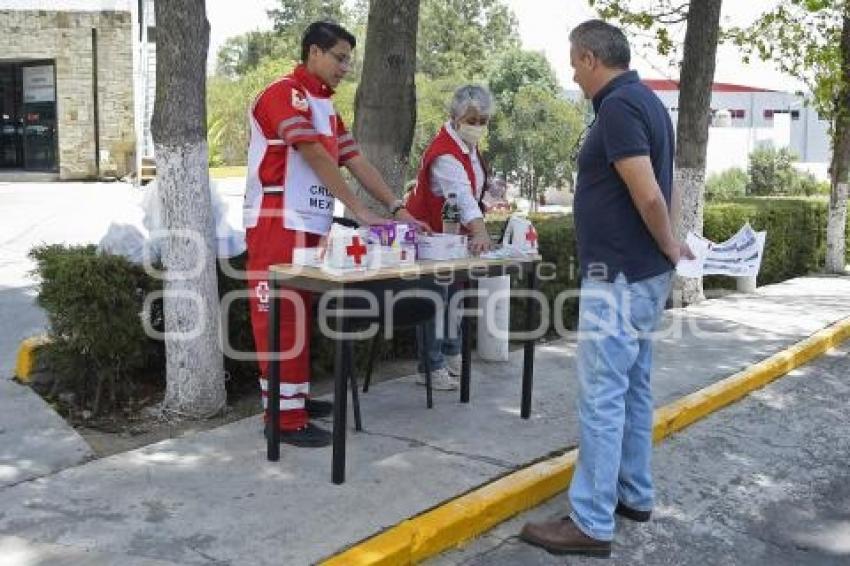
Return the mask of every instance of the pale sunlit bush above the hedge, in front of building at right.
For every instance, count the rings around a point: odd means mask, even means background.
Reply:
[[[747,194],[753,196],[828,194],[829,184],[794,168],[797,156],[788,148],[759,148],[750,154]]]

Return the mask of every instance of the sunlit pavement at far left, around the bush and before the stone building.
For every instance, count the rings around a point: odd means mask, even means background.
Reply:
[[[215,187],[241,222],[244,179]],[[52,474],[92,457],[88,444],[29,387],[9,380],[21,341],[47,330],[27,257],[41,244],[96,244],[109,225],[142,227],[143,193],[127,183],[0,182],[0,487]],[[0,552],[2,555],[2,552]]]

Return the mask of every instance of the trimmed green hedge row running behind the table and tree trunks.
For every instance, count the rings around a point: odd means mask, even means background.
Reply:
[[[705,234],[714,241],[732,236],[745,222],[756,230],[767,230],[767,243],[760,284],[783,281],[822,269],[825,257],[827,203],[818,198],[740,199],[732,202],[709,203],[705,209]],[[579,284],[578,262],[572,217],[532,217],[540,251],[545,262],[552,264],[551,280],[541,280],[540,290],[554,305],[555,297],[564,289]],[[491,233],[498,233],[504,219],[488,221]],[[36,248],[32,257],[37,262],[41,278],[38,303],[48,314],[53,345],[48,348],[48,363],[63,375],[77,390],[81,406],[103,407],[104,395],[115,404],[126,405],[132,400],[134,380],[162,380],[162,344],[149,339],[142,331],[140,312],[147,293],[160,289],[160,283],[144,273],[142,268],[115,256],[97,255],[94,246],[44,246]],[[241,270],[244,256],[228,260],[231,267]],[[848,249],[850,261],[850,249]],[[705,286],[734,288],[731,278],[709,277]],[[219,290],[222,296],[231,290],[244,290],[245,282],[230,278],[219,271]],[[577,301],[564,304],[563,321],[567,328],[575,327]],[[147,313],[152,323],[161,325],[161,312]],[[511,325],[524,325],[522,301],[512,304]],[[550,318],[550,320],[553,320]],[[317,326],[317,325],[314,325]],[[253,350],[247,300],[237,301],[228,313],[229,341],[241,351]],[[314,329],[311,358],[319,376],[332,371],[334,345]],[[355,348],[355,363],[362,375],[368,348]],[[395,357],[414,355],[413,332],[397,333],[382,346],[383,355]],[[253,362],[225,360],[230,375],[229,385],[244,384],[257,376]],[[104,390],[104,387],[108,389]]]

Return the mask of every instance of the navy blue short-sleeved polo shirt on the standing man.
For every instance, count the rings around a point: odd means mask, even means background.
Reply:
[[[674,134],[667,109],[635,71],[612,79],[593,97],[596,119],[578,155],[573,214],[582,276],[629,282],[673,268],[632,201],[614,163],[648,155],[670,207]]]

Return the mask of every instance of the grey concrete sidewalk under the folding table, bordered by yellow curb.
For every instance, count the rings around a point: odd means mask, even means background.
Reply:
[[[850,279],[828,277],[669,311],[656,405],[846,316]],[[574,446],[573,351],[566,340],[538,347],[528,421],[519,418],[521,352],[508,364],[473,364],[469,405],[436,393],[427,410],[412,378],[376,384],[361,397],[366,430],[349,431],[341,486],[330,482],[329,448],[284,447],[280,462],[267,462],[252,418],[2,488],[0,533],[19,550],[31,544],[33,556],[62,545],[115,563],[313,563]]]

